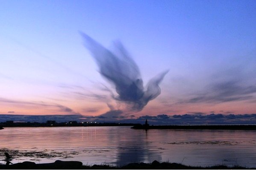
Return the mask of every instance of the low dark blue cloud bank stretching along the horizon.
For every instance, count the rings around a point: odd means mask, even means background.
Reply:
[[[119,118],[114,119],[114,118]],[[138,118],[134,116],[114,116],[110,119],[105,116],[82,116],[79,114],[72,115],[18,115],[18,114],[0,114],[0,122],[12,120],[14,122],[40,122],[45,123],[47,120],[56,122],[116,122],[116,123],[141,123],[145,120],[150,125],[238,125],[254,124],[256,114],[233,114],[233,113],[188,113],[182,115],[159,114],[156,116],[144,115]]]

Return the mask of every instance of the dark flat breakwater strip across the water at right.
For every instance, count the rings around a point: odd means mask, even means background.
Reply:
[[[132,129],[256,130],[256,125],[135,125]]]

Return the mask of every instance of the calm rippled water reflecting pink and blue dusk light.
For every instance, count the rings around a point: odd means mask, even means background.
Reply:
[[[186,165],[256,167],[253,130],[135,130],[130,127],[6,127],[0,130],[12,163],[59,160],[123,165],[169,161]],[[56,158],[57,157],[57,158]]]

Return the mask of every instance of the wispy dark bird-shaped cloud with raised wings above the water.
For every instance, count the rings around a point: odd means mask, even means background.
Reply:
[[[141,111],[150,100],[155,99],[160,93],[159,83],[168,71],[153,77],[144,90],[143,80],[137,64],[129,57],[124,46],[115,43],[115,52],[109,51],[86,34],[82,33],[85,46],[91,51],[100,74],[115,85],[118,96],[116,100],[132,105],[132,110]]]

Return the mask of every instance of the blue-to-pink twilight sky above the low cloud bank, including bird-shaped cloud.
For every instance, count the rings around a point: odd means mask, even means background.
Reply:
[[[256,113],[254,0],[0,0],[0,114]]]

